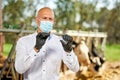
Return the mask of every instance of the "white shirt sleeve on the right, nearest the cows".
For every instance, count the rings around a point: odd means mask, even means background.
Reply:
[[[74,71],[77,72],[79,71],[79,62],[78,58],[73,52],[73,50],[70,53],[63,53],[63,62],[67,65],[67,67]]]

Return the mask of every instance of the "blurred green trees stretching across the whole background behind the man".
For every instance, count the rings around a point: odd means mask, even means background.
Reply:
[[[47,6],[49,0],[3,0],[7,1],[7,5],[3,7],[3,19],[6,27],[13,25],[16,28],[19,24],[26,24],[26,29],[31,29],[31,23],[35,21],[36,6],[38,4]],[[109,0],[102,0],[104,7],[100,11],[96,11],[96,5],[99,4],[98,0],[56,0],[55,10],[55,28],[56,29],[80,29],[81,30],[94,30],[96,28],[93,22],[98,25],[98,31],[107,31],[108,37],[118,42],[119,41],[119,2],[114,4],[113,9],[107,9]],[[77,20],[78,19],[78,20]],[[83,25],[86,22],[90,25],[87,28]],[[20,26],[20,25],[19,25]],[[17,27],[20,28],[20,27]],[[111,32],[111,29],[113,32]],[[116,33],[117,32],[117,33]],[[115,36],[115,37],[114,37]]]

